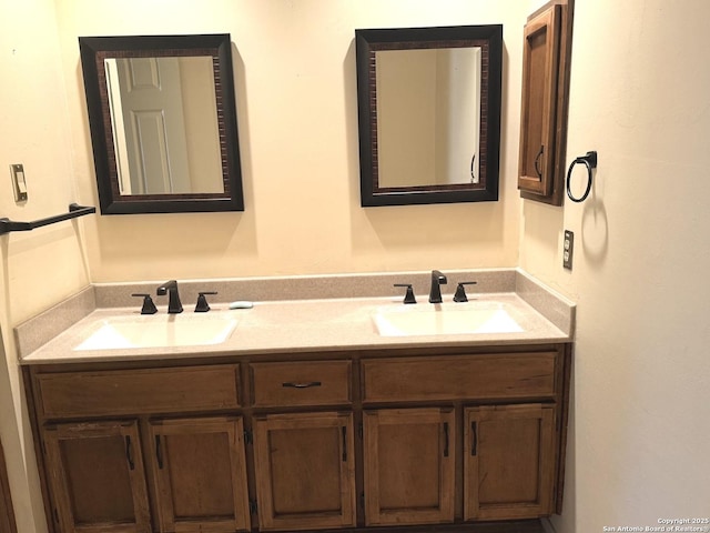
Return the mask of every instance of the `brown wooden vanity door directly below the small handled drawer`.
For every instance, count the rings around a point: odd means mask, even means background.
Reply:
[[[355,525],[352,413],[293,413],[254,422],[261,530]]]

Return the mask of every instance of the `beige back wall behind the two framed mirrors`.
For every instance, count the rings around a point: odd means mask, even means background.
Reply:
[[[62,0],[57,9],[87,202],[97,193],[77,37],[229,32],[234,42],[246,211],[89,219],[94,281],[516,264],[518,91],[504,95],[500,202],[362,209],[354,30],[501,22],[506,81],[518,87],[519,2],[180,0],[166,10]]]

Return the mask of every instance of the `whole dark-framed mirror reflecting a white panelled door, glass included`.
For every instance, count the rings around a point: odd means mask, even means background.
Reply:
[[[79,48],[102,214],[244,210],[229,33]]]

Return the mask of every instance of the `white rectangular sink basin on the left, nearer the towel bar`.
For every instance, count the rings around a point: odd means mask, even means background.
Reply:
[[[115,316],[97,321],[89,336],[74,350],[220,344],[230,338],[236,322],[215,313]]]

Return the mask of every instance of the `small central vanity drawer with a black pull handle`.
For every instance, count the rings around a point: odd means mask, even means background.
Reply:
[[[254,406],[351,403],[351,362],[253,363]]]

